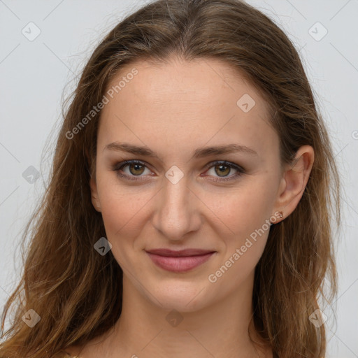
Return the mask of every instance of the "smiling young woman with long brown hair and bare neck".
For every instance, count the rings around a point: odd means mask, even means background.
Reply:
[[[332,208],[284,32],[243,1],[149,3],[85,66],[0,357],[324,357]]]

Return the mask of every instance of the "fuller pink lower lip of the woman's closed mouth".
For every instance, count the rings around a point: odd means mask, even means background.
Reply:
[[[208,261],[215,252],[209,252],[206,255],[169,257],[151,254],[147,252],[157,266],[164,270],[172,272],[186,272]]]

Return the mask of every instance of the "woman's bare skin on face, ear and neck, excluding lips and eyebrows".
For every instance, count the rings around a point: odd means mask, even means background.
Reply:
[[[312,169],[313,148],[299,148],[294,167],[280,168],[279,138],[268,124],[268,106],[243,76],[214,59],[169,64],[127,65],[110,84],[136,68],[103,108],[97,138],[92,203],[102,213],[107,239],[124,271],[122,316],[113,329],[81,347],[79,357],[272,357],[248,336],[254,270],[268,230],[228,270],[208,276],[240,249],[265,220],[284,220],[296,208]],[[108,86],[108,87],[110,87]],[[248,113],[236,104],[243,94],[255,100]],[[108,143],[146,145],[159,159],[104,149]],[[196,148],[236,143],[257,152],[232,152],[194,159]],[[119,178],[113,166],[137,159]],[[245,173],[227,182],[236,169]],[[176,165],[183,177],[173,184],[165,174]],[[216,170],[215,170],[216,169]],[[137,175],[137,176],[136,176]],[[283,212],[283,219],[275,213]],[[272,220],[273,219],[273,220]],[[156,266],[145,250],[203,248],[213,257],[187,273]],[[182,321],[173,327],[166,316]],[[77,353],[77,348],[67,350]]]

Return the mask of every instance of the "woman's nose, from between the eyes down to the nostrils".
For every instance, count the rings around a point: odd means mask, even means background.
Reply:
[[[176,184],[164,178],[152,223],[167,240],[180,241],[186,234],[199,230],[202,207],[203,203],[188,186],[185,176]]]

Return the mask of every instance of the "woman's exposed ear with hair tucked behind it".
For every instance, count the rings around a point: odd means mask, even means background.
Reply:
[[[314,160],[313,148],[303,145],[297,150],[292,164],[286,165],[275,203],[276,210],[281,211],[284,218],[294,211],[301,200]]]

